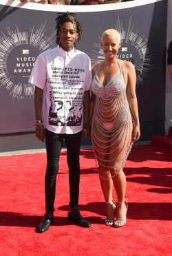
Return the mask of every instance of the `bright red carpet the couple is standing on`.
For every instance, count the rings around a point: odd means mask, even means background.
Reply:
[[[79,201],[80,212],[92,227],[82,228],[67,220],[69,185],[66,153],[62,152],[55,222],[43,234],[37,233],[37,226],[45,212],[45,153],[0,160],[1,255],[171,255],[170,152],[152,145],[133,147],[124,169],[129,210],[122,228],[105,226],[105,202],[92,150],[80,154]]]

